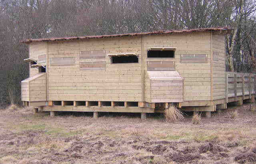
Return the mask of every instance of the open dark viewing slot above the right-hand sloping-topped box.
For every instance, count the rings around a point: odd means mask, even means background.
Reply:
[[[152,47],[148,50],[148,58],[174,58],[176,48]]]

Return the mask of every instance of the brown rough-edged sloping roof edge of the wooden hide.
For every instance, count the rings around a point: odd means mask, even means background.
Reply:
[[[122,36],[142,36],[142,35],[164,35],[173,33],[187,33],[187,32],[207,32],[207,31],[222,31],[232,30],[230,27],[216,27],[216,28],[196,28],[196,29],[184,29],[184,30],[168,30],[168,31],[154,31],[154,32],[141,32],[141,33],[129,33],[129,34],[114,34],[114,35],[98,35],[98,36],[75,36],[75,37],[63,37],[63,38],[40,38],[40,39],[25,39],[22,43],[30,42],[48,42],[48,41],[61,41],[61,40],[80,40],[90,38],[114,38]]]

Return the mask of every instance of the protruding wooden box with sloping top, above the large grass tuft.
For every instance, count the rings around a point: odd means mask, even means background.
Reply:
[[[177,71],[147,71],[145,84],[150,103],[183,102],[183,78]]]

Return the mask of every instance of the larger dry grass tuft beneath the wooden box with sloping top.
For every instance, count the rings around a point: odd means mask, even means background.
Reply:
[[[171,123],[184,120],[183,113],[173,104],[170,104],[168,108],[164,110],[164,117],[166,118],[166,122]]]

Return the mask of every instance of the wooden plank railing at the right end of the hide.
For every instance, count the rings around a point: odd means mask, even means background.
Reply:
[[[229,97],[237,97],[256,93],[256,74],[226,72],[226,102]]]

